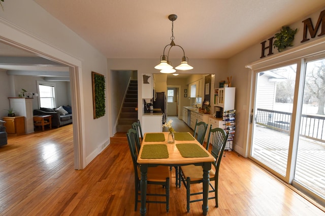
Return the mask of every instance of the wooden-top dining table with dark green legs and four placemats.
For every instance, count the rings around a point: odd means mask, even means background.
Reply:
[[[168,143],[169,132],[144,134],[138,155],[141,170],[141,215],[146,214],[147,170],[153,166],[196,165],[203,168],[203,215],[208,213],[209,173],[215,158],[188,132],[174,133],[175,142]],[[177,178],[177,177],[176,177]]]

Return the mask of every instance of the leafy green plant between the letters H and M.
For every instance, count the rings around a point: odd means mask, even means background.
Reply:
[[[283,51],[287,47],[292,47],[292,42],[295,39],[296,30],[291,29],[289,26],[283,26],[279,33],[276,33],[274,38],[274,48],[277,48],[279,52]]]

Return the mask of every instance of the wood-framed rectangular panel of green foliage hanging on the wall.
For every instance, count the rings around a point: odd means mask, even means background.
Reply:
[[[91,71],[93,118],[105,115],[105,77]]]

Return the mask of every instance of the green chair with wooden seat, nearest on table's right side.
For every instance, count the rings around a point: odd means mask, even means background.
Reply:
[[[222,154],[228,139],[228,134],[226,134],[222,128],[213,128],[210,125],[207,149],[209,149],[209,143],[212,144],[211,154],[216,159],[215,162],[212,162],[212,169],[210,170],[210,193],[214,193],[214,196],[209,197],[209,199],[215,199],[215,206],[218,207],[218,176],[219,176],[219,167],[221,163]],[[179,167],[179,181],[182,181],[186,187],[186,209],[189,212],[189,203],[202,201],[201,199],[190,200],[192,195],[203,195],[203,191],[191,193],[190,185],[191,184],[200,184],[203,182],[203,169],[202,166],[180,166]],[[211,184],[211,181],[214,181],[214,185]]]

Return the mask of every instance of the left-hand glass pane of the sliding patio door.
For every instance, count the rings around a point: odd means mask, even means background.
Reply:
[[[255,103],[251,156],[285,176],[296,64],[255,74]]]

